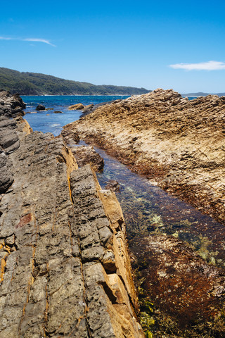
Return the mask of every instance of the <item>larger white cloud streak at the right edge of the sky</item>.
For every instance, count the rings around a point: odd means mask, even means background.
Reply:
[[[174,69],[185,70],[222,70],[225,69],[225,63],[221,61],[207,61],[200,63],[176,63],[175,65],[169,65]]]

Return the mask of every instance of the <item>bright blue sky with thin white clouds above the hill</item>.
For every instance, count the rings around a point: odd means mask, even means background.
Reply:
[[[3,1],[0,67],[180,93],[225,92],[225,1]]]

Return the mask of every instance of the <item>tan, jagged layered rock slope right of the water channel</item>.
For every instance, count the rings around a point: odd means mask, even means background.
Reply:
[[[170,90],[102,106],[65,126],[225,223],[225,97]]]

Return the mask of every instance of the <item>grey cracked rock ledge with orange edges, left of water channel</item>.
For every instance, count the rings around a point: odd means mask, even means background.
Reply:
[[[0,93],[0,337],[144,337],[115,194],[23,108]]]

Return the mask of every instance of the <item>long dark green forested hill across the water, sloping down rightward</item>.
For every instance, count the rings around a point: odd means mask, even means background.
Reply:
[[[88,82],[64,80],[51,75],[20,73],[8,68],[0,68],[0,89],[20,95],[133,95],[150,92],[136,87],[105,84],[96,86]]]

